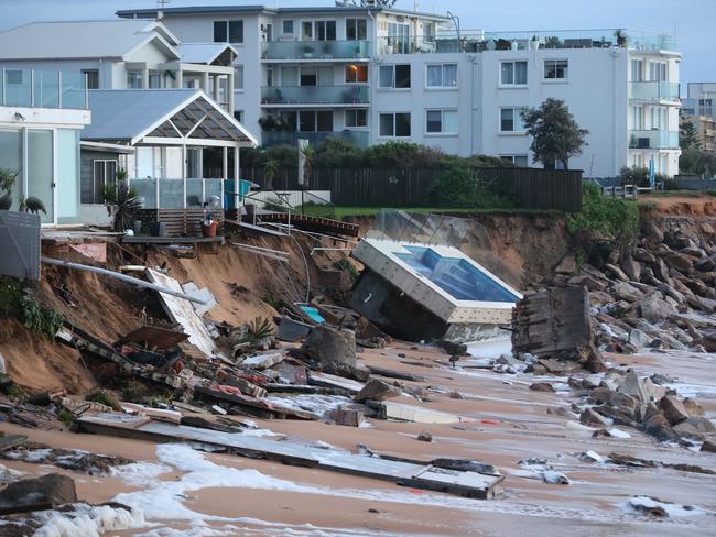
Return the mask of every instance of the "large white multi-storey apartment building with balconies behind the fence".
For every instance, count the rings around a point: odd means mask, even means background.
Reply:
[[[553,97],[589,130],[572,168],[679,169],[681,55],[665,35],[457,33],[442,15],[355,6],[118,12],[158,14],[185,42],[237,50],[235,113],[264,145],[404,140],[534,165],[520,112]]]

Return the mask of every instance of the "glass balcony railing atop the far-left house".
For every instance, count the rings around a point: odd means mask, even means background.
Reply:
[[[3,68],[0,72],[0,106],[85,110],[85,75]]]

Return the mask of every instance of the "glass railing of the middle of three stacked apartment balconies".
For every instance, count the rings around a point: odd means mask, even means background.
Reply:
[[[367,105],[368,86],[276,86],[261,88],[262,105]]]

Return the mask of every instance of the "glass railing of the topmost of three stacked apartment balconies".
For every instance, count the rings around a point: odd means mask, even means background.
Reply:
[[[369,41],[268,41],[261,43],[261,59],[306,62],[370,58]]]

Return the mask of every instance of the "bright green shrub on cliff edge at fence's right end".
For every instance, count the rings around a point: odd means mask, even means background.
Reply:
[[[582,186],[582,212],[566,216],[567,231],[596,231],[607,240],[627,243],[639,232],[639,208],[631,200],[609,198],[597,185]]]

